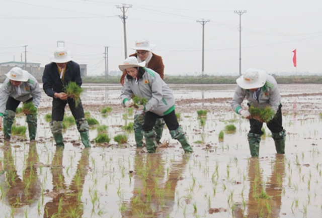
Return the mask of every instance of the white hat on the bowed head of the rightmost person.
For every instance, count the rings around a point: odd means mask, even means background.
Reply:
[[[264,70],[247,69],[243,75],[236,79],[240,88],[260,88],[265,85],[267,73]]]

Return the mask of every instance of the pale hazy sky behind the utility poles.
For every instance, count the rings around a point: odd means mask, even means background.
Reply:
[[[73,60],[88,64],[88,75],[109,71],[124,61],[122,15],[126,12],[127,54],[137,38],[156,44],[165,74],[201,74],[202,25],[205,28],[205,74],[239,74],[239,15],[241,16],[241,70],[269,73],[322,73],[321,0],[0,0],[0,62],[49,63],[64,41]],[[62,45],[61,43],[59,45]],[[293,50],[297,50],[297,68]]]

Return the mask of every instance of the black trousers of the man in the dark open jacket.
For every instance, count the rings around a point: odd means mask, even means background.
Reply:
[[[68,103],[72,116],[75,120],[79,118],[84,118],[84,108],[82,101],[79,101],[78,106],[75,106],[75,101],[72,98],[67,98],[67,100],[61,100],[60,98],[53,98],[52,100],[52,113],[51,119],[53,121],[62,121],[65,114],[65,106]]]

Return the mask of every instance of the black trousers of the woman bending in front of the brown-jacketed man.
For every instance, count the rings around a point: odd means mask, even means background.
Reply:
[[[151,131],[157,118],[163,118],[169,130],[177,130],[179,128],[176,112],[173,110],[170,114],[165,116],[158,116],[152,112],[146,112],[144,114],[144,124],[142,126],[142,130],[145,132]]]

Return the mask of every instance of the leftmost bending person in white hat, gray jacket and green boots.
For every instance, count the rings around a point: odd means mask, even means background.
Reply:
[[[41,100],[41,89],[37,79],[20,67],[12,68],[7,74],[0,95],[0,127],[4,122],[4,137],[11,139],[11,128],[20,102],[32,102],[37,108]],[[3,119],[4,117],[4,119]],[[37,133],[37,113],[26,115],[29,139],[35,140]]]

